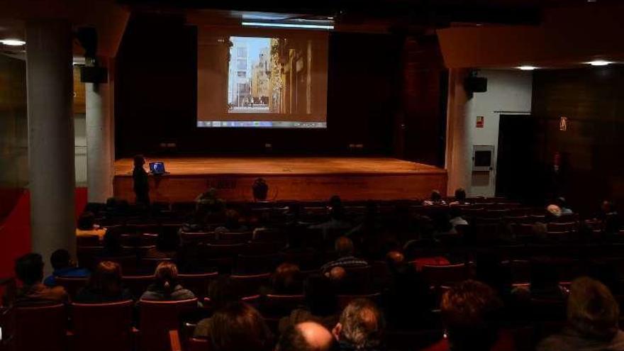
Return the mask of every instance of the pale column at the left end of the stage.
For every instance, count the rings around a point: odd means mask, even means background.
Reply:
[[[87,100],[87,184],[89,202],[113,196],[113,123],[109,84],[84,84]]]

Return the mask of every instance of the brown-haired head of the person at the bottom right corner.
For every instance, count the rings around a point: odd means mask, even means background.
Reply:
[[[572,283],[567,315],[572,328],[587,338],[610,340],[618,332],[618,302],[597,280],[581,277]]]

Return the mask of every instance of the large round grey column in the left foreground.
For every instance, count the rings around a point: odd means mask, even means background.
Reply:
[[[72,26],[35,21],[26,26],[30,225],[33,252],[59,248],[75,257]]]

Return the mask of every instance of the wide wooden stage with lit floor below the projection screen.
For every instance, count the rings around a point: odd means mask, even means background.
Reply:
[[[152,201],[193,201],[210,188],[227,201],[253,201],[257,177],[269,184],[269,200],[423,198],[446,190],[445,169],[386,157],[194,157],[158,158],[168,174],[150,175]],[[134,201],[131,159],[115,162],[115,196]]]

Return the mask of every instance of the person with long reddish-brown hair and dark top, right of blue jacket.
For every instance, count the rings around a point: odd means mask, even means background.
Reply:
[[[121,284],[121,266],[116,262],[99,262],[87,286],[78,291],[75,302],[103,303],[131,300],[128,289]]]

